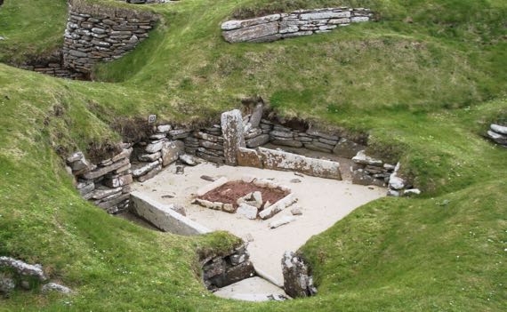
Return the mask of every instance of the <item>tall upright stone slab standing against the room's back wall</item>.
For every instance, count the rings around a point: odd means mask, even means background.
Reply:
[[[239,148],[245,148],[243,116],[239,109],[221,114],[221,131],[225,164],[237,165],[237,152]]]

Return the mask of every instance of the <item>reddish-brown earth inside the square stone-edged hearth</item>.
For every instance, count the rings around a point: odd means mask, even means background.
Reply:
[[[276,188],[261,188],[252,183],[231,181],[225,183],[220,188],[215,188],[207,192],[204,196],[200,196],[199,199],[204,199],[213,203],[232,204],[237,208],[237,199],[257,191],[262,194],[262,207],[268,202],[271,204],[277,203],[280,199],[289,194],[288,192]]]

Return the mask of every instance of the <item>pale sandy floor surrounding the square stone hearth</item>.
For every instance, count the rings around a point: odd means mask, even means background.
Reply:
[[[228,230],[239,236],[254,237],[248,245],[254,266],[277,284],[283,284],[280,261],[286,251],[296,251],[311,236],[330,228],[355,208],[385,196],[384,188],[352,185],[350,181],[326,180],[309,176],[299,177],[294,172],[276,172],[247,167],[230,167],[216,164],[199,164],[185,167],[185,173],[176,175],[175,165],[167,167],[155,178],[133,188],[163,204],[183,204],[187,217],[206,228]],[[293,189],[299,201],[270,220],[247,220],[237,214],[217,212],[190,204],[192,194],[210,182],[200,179],[202,175],[227,177],[238,180],[245,175],[273,179]],[[291,183],[299,179],[301,183]],[[163,197],[165,196],[165,197]],[[174,196],[168,198],[167,196]],[[299,207],[302,215],[280,228],[270,229],[269,224],[280,217],[291,215],[291,209]]]

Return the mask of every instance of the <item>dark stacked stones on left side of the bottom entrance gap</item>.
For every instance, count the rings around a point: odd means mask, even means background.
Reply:
[[[254,265],[245,245],[225,256],[207,258],[201,263],[205,286],[211,291],[255,275]]]

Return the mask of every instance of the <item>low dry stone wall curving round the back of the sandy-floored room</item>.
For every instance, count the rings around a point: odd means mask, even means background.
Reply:
[[[75,176],[79,193],[109,213],[122,212],[127,208],[133,180],[149,180],[174,162],[196,165],[199,158],[215,164],[294,171],[342,180],[338,162],[262,148],[271,143],[351,158],[350,172],[354,184],[387,187],[390,196],[420,194],[400,176],[400,164],[389,164],[367,156],[366,146],[361,142],[311,127],[291,128],[271,122],[263,118],[265,112],[261,102],[247,111],[250,113],[245,116],[237,109],[226,112],[222,115],[221,124],[200,129],[154,125],[146,139],[122,143],[117,155],[98,164],[88,162],[81,152],[68,156],[68,171]],[[495,127],[496,131],[503,128]],[[176,173],[183,172],[184,166],[177,165]]]

